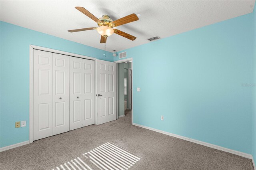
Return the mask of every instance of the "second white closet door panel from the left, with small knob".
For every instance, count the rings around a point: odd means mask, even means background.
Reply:
[[[53,53],[53,135],[69,131],[69,56]]]

